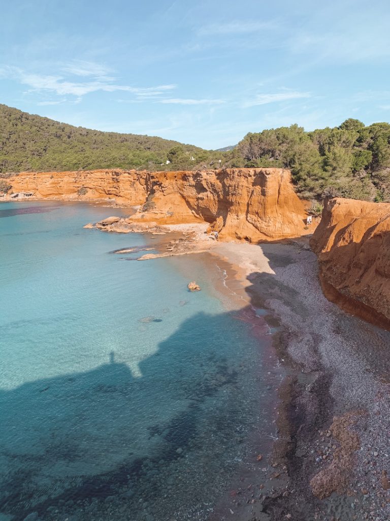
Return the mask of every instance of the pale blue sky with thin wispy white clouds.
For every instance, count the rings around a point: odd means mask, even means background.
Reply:
[[[390,121],[388,0],[2,3],[0,102],[204,148]]]

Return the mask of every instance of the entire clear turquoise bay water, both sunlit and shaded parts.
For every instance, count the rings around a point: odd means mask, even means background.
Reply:
[[[206,519],[261,425],[251,321],[110,213],[0,205],[1,521]]]

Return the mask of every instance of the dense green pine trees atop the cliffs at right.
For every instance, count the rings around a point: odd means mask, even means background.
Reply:
[[[390,125],[347,119],[305,132],[292,125],[246,134],[230,166],[290,168],[303,197],[339,195],[390,202]]]

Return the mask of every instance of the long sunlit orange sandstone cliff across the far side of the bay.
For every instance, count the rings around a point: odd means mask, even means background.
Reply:
[[[141,206],[132,220],[142,222],[212,225],[217,221],[222,239],[258,242],[310,231],[289,170],[278,168],[21,172],[7,182],[11,192],[30,192],[35,200],[111,200]]]

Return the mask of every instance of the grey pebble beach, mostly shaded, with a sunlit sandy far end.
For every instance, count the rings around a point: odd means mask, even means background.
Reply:
[[[275,487],[231,519],[390,519],[390,332],[342,312],[320,288],[307,241],[222,243],[214,250],[246,274],[252,306],[282,333],[288,375],[279,387]],[[276,481],[276,480],[275,480]]]

